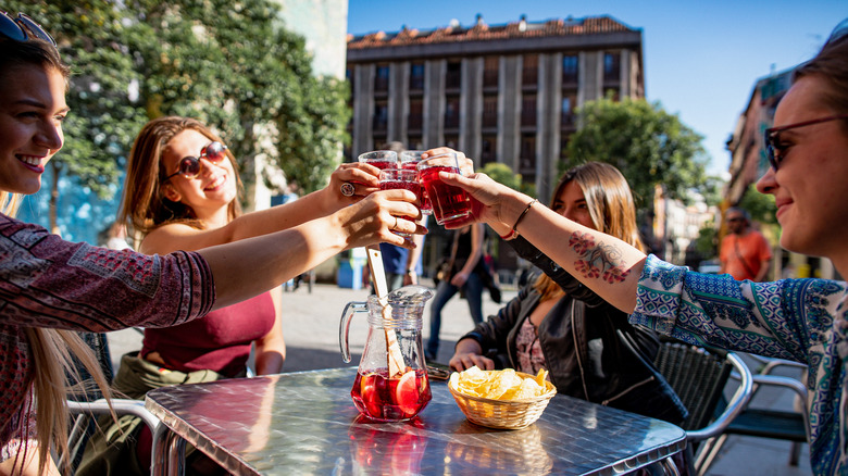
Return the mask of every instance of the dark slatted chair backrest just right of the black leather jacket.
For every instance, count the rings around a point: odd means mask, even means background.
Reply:
[[[727,353],[676,340],[661,341],[654,365],[689,411],[683,429],[700,429],[712,419],[733,368]]]

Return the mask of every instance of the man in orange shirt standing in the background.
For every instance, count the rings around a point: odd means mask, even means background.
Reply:
[[[720,273],[729,273],[737,280],[765,280],[772,262],[772,247],[753,227],[748,212],[731,206],[724,212],[729,234],[722,239]]]

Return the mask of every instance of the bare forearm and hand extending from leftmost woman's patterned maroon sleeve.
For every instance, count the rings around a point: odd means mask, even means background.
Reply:
[[[401,201],[402,200],[402,201]],[[425,233],[414,220],[414,193],[386,190],[359,203],[291,229],[262,235],[198,251],[215,278],[214,309],[235,304],[279,286],[339,251],[381,241],[412,248],[391,231]]]

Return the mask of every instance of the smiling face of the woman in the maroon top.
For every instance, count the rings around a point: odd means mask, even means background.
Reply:
[[[195,129],[186,129],[174,136],[162,150],[161,166],[166,175],[179,168],[179,161],[188,155],[199,156],[200,151],[213,139]],[[236,174],[228,159],[214,163],[200,159],[200,173],[186,178],[175,175],[163,184],[165,198],[190,206],[198,218],[214,225],[226,223],[227,205],[237,195]]]

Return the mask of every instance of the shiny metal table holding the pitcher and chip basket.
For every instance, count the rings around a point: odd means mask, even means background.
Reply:
[[[560,394],[527,428],[485,428],[465,419],[438,380],[413,421],[373,423],[350,398],[356,374],[332,368],[150,391],[146,406],[164,423],[154,474],[182,474],[185,441],[246,475],[614,475],[686,446],[674,425]]]

